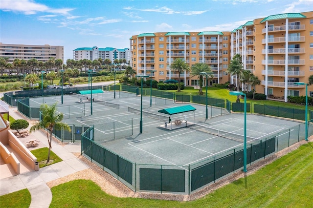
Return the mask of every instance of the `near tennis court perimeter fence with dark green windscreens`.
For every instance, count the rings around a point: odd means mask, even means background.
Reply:
[[[303,140],[304,129],[305,124],[300,124],[247,145],[247,165]],[[90,132],[92,127],[82,134],[82,155],[134,191],[191,194],[243,167],[243,147],[189,166],[137,164],[94,142]]]

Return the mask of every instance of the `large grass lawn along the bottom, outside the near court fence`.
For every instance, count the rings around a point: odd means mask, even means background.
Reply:
[[[246,178],[192,202],[117,198],[92,181],[75,180],[52,187],[54,207],[312,207],[313,143],[300,146]]]

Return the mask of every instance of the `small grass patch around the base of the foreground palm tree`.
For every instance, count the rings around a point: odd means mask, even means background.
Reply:
[[[34,149],[31,150],[31,153],[37,158],[37,161],[39,162],[39,168],[49,166],[54,163],[61,162],[62,159],[58,157],[52,150],[50,151],[50,161],[48,164],[46,164],[46,160],[48,158],[48,147],[40,148],[40,149]]]

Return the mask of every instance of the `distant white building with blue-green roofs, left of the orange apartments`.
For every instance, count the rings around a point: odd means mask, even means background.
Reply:
[[[73,50],[73,59],[79,61],[82,59],[88,60],[97,60],[101,58],[102,60],[110,59],[111,62],[115,59],[126,59],[126,62],[129,63],[131,59],[131,52],[129,48],[117,49],[117,48],[99,48],[94,46],[92,48],[76,48]]]

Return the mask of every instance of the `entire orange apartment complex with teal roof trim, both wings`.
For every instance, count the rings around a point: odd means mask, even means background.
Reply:
[[[313,75],[313,12],[286,13],[248,21],[230,32],[144,33],[130,38],[131,66],[137,74],[152,79],[178,80],[171,62],[183,58],[190,67],[207,63],[212,83],[235,83],[227,73],[230,60],[241,54],[243,65],[261,81],[256,92],[287,102],[287,96],[305,96],[305,85]],[[190,72],[180,75],[186,86],[199,85]],[[242,86],[252,89],[251,84]],[[313,97],[313,86],[308,86]]]

